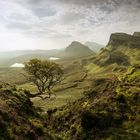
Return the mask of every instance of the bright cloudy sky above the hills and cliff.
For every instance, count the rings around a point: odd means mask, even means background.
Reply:
[[[111,33],[135,31],[140,0],[0,0],[0,51],[106,45]]]

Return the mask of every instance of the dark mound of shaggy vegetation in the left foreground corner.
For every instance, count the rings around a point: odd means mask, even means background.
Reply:
[[[23,90],[9,84],[0,85],[0,106],[0,139],[18,139],[26,135],[26,126],[32,129],[28,117],[37,113]]]

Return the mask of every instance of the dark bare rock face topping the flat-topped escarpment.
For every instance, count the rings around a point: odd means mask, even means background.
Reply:
[[[107,46],[128,46],[131,48],[140,48],[140,32],[135,32],[133,35],[113,33]]]

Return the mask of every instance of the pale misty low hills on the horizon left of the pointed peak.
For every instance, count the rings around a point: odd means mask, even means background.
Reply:
[[[33,58],[48,59],[55,57],[61,50],[21,50],[0,52],[0,67],[9,67],[14,63],[23,63]]]

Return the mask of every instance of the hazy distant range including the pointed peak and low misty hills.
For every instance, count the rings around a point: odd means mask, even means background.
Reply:
[[[0,52],[0,67],[9,67],[14,63],[24,63],[33,58],[48,59],[57,57],[61,59],[75,59],[95,54],[87,46],[74,41],[64,50],[21,50]]]

